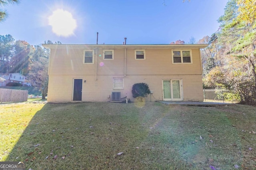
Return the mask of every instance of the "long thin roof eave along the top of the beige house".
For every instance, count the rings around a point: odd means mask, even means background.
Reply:
[[[49,49],[85,49],[85,48],[107,48],[107,49],[204,49],[209,44],[129,44],[129,45],[106,45],[106,44],[42,44],[43,47]]]

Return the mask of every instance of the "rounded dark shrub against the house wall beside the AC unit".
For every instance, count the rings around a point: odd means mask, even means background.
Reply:
[[[148,84],[146,83],[136,83],[132,86],[132,97],[147,97],[150,94]]]

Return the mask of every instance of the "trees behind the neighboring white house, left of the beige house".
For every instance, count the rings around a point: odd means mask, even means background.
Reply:
[[[53,44],[52,41],[45,41]],[[61,44],[59,41],[56,44]],[[15,40],[12,35],[0,35],[0,73],[20,73],[32,86],[40,87],[42,98],[48,92],[48,62],[50,50],[42,45],[30,45]]]

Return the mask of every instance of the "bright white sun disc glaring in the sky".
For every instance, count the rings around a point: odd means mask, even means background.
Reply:
[[[72,14],[62,9],[52,12],[52,15],[48,18],[48,23],[52,26],[52,32],[64,37],[74,35],[74,30],[77,27]]]

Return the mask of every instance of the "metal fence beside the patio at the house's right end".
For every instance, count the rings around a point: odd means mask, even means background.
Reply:
[[[237,103],[239,102],[236,94],[226,89],[203,89],[204,102],[223,102],[223,103]]]

